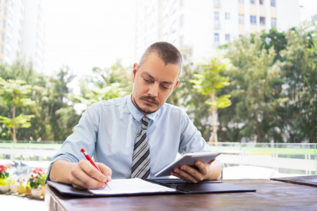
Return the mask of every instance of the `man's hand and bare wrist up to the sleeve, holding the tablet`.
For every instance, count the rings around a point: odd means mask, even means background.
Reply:
[[[171,175],[179,177],[188,183],[220,179],[222,165],[216,158],[206,164],[201,161],[196,161],[195,165],[198,169],[188,165],[182,165],[180,168],[174,169],[174,172],[172,172]]]

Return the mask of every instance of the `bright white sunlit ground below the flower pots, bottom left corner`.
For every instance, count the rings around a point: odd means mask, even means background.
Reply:
[[[0,195],[1,210],[23,210],[23,211],[47,211],[44,201],[31,200],[28,198]]]

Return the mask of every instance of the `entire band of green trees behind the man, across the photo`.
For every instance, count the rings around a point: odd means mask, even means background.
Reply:
[[[191,49],[183,49],[180,83],[167,100],[188,113],[205,140],[218,126],[221,141],[316,142],[315,31],[272,28],[229,43],[222,51],[230,68],[222,59],[195,64]],[[15,122],[17,140],[65,140],[89,105],[131,93],[131,73],[120,60],[81,78],[68,66],[47,76],[20,60],[0,64],[0,139],[12,138]],[[73,90],[76,83],[79,89]],[[14,98],[14,90],[21,96]],[[13,120],[14,108],[19,115]],[[216,109],[218,122],[213,122],[210,112]]]

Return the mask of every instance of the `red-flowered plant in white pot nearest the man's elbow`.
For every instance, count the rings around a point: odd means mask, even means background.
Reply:
[[[46,174],[41,168],[36,168],[32,171],[29,182],[31,186],[31,193],[35,197],[42,195],[42,186],[45,182]]]

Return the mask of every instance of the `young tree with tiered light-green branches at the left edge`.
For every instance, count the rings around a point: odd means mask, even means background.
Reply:
[[[13,142],[16,143],[16,130],[19,128],[31,127],[30,120],[34,118],[34,115],[16,116],[16,108],[23,106],[32,106],[35,101],[28,98],[28,94],[31,92],[31,85],[27,85],[24,80],[12,80],[7,81],[0,78],[0,96],[6,103],[12,105],[12,118],[0,116],[0,122],[5,124],[9,129]],[[12,130],[11,130],[12,128]]]

